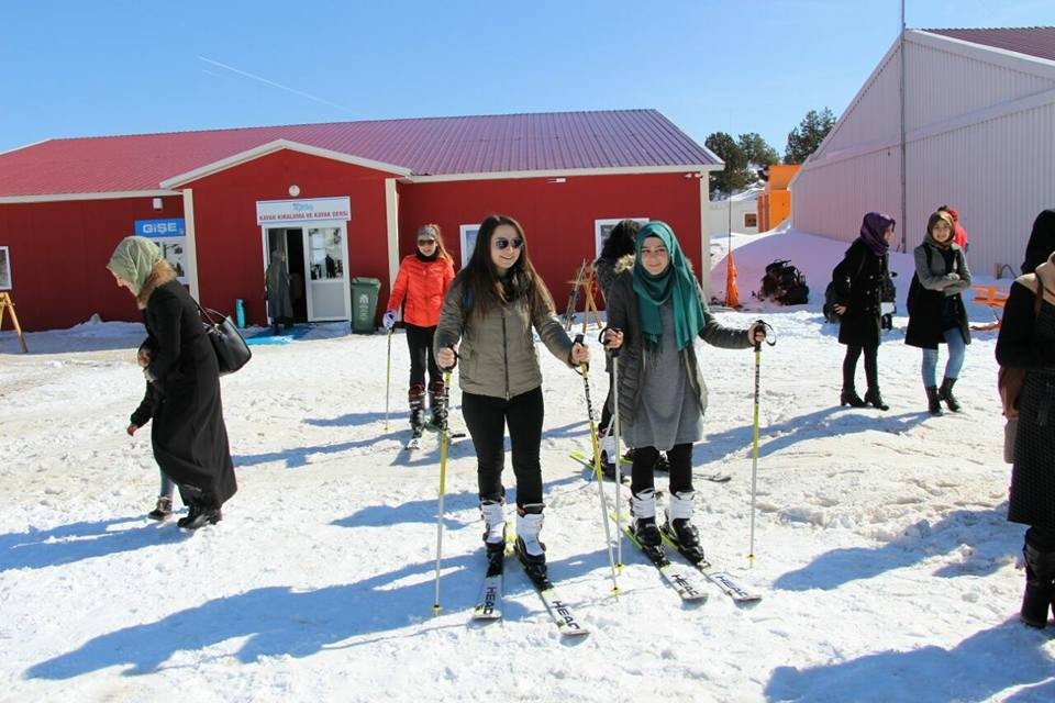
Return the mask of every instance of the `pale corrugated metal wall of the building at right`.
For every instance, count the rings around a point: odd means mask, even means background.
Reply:
[[[908,30],[903,65],[901,46],[791,180],[793,226],[848,242],[865,212],[887,212],[912,250],[947,203],[971,269],[1018,274],[1033,220],[1055,207],[1055,27]]]

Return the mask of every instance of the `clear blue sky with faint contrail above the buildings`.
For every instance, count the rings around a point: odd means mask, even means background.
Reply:
[[[1055,25],[1052,0],[907,0],[910,27]],[[848,104],[898,0],[35,0],[0,22],[0,152],[63,136],[656,108],[784,153]]]

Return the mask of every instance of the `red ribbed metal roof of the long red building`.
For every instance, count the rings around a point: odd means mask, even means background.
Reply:
[[[51,140],[0,154],[0,198],[157,190],[276,140],[413,175],[721,164],[656,110],[380,120]]]

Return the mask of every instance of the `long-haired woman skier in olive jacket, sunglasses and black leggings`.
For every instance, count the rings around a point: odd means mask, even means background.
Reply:
[[[506,215],[481,224],[469,263],[443,301],[434,338],[436,362],[448,369],[460,339],[462,416],[477,458],[484,542],[488,559],[506,546],[502,468],[506,427],[517,476],[517,554],[536,582],[546,579],[542,529],[542,370],[533,332],[558,359],[575,367],[589,349],[573,344],[545,282],[528,257],[523,227]]]

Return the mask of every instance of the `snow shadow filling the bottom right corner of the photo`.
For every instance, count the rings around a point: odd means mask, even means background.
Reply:
[[[986,701],[1026,687],[1002,701],[1055,696],[1050,637],[1009,620],[952,649],[929,646],[882,651],[840,663],[778,667],[765,688],[767,701]]]

